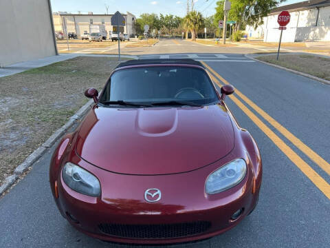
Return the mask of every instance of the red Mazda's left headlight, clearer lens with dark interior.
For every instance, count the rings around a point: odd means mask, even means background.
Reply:
[[[74,191],[87,196],[100,196],[101,187],[98,178],[82,167],[66,163],[62,170],[62,177],[65,184]]]

